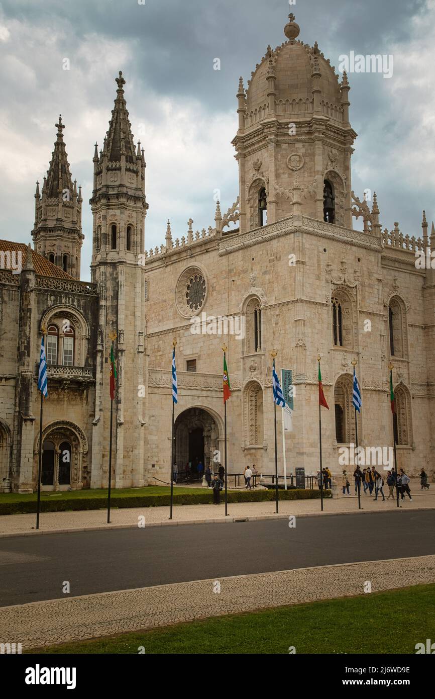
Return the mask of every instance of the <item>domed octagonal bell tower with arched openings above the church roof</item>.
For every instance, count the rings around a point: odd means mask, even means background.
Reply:
[[[245,89],[239,80],[240,232],[302,215],[352,226],[351,89],[317,42],[302,43],[295,15],[287,41],[267,51]]]

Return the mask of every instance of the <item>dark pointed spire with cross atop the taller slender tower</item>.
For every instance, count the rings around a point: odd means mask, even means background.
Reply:
[[[117,98],[115,99],[115,107],[112,110],[112,118],[109,122],[109,130],[106,137],[107,141],[103,151],[107,152],[111,163],[120,162],[121,155],[125,155],[126,162],[133,164],[135,162],[135,147],[124,99],[123,86],[126,81],[122,77],[121,71],[119,71],[119,78],[115,78],[115,80],[118,86]]]

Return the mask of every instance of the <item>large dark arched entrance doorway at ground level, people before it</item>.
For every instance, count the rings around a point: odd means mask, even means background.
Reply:
[[[203,408],[184,410],[175,420],[175,461],[178,470],[190,470],[202,461],[205,468],[213,466],[213,454],[219,449],[219,426],[216,419]]]

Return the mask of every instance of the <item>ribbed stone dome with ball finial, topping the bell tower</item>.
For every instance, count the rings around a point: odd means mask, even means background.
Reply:
[[[284,27],[288,40],[275,49],[268,46],[251,73],[246,91],[246,127],[266,117],[270,87],[275,93],[277,116],[307,118],[314,110],[314,73],[320,75],[321,112],[334,121],[343,122],[339,75],[320,52],[317,42],[309,46],[297,39],[300,27],[294,20],[295,15],[290,13]]]

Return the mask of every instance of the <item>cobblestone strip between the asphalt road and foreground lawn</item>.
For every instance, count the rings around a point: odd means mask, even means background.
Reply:
[[[3,607],[0,641],[23,649],[435,582],[435,556],[300,568]]]

